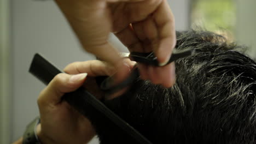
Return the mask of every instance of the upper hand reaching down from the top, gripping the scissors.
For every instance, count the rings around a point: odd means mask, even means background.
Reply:
[[[161,64],[170,58],[176,35],[166,0],[55,0],[84,49],[112,63],[118,79],[127,73],[117,50],[108,42],[113,32],[130,51],[154,51]],[[142,79],[165,87],[175,80],[174,63],[165,67],[139,65]]]

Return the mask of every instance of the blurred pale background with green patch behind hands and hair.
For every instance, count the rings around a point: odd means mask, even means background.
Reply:
[[[168,0],[176,30],[203,28],[244,44],[256,58],[255,0]],[[120,51],[127,51],[110,35]],[[94,59],[84,52],[51,0],[0,0],[0,143],[18,139],[38,116],[37,97],[45,87],[28,73],[34,53],[59,69]],[[94,139],[91,144],[97,144]]]

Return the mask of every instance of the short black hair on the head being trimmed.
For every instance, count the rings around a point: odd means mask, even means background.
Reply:
[[[137,80],[105,104],[152,143],[256,143],[256,63],[207,31],[177,32],[171,88]],[[104,119],[94,119],[101,143],[134,143]]]

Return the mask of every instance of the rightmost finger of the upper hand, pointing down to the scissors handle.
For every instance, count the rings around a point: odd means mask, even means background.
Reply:
[[[162,1],[154,15],[156,26],[158,27],[159,47],[155,50],[158,61],[161,65],[168,62],[172,50],[176,45],[176,32],[174,16],[167,1]]]

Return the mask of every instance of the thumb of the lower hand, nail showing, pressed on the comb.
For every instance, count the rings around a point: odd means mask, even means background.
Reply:
[[[56,105],[61,101],[63,94],[73,92],[83,85],[87,73],[78,75],[58,74],[43,89],[38,98],[39,107],[42,105]]]

